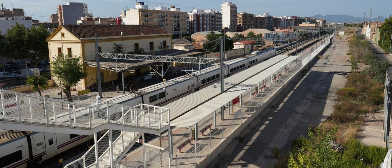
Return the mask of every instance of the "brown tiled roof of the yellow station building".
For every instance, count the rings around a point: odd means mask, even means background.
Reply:
[[[78,38],[169,34],[158,25],[63,25]],[[121,32],[123,34],[121,35]]]

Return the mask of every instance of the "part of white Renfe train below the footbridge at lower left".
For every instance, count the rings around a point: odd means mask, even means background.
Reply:
[[[2,130],[0,168],[30,167],[92,138],[93,135]]]

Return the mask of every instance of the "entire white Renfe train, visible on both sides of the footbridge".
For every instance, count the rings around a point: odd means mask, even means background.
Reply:
[[[225,77],[249,68],[259,62],[277,55],[275,48],[254,51],[245,57],[224,62]],[[190,75],[183,75],[171,80],[148,86],[138,91],[109,99],[111,102],[135,106],[140,103],[160,106],[204,88],[220,79],[220,65],[196,71]],[[199,80],[201,78],[201,80]],[[166,101],[165,91],[166,88]],[[105,131],[101,131],[105,133]],[[93,135],[90,135],[93,136]],[[0,131],[0,168],[29,167],[39,161],[45,161],[61,152],[86,142],[87,135],[73,135],[61,133],[43,133],[29,131]]]

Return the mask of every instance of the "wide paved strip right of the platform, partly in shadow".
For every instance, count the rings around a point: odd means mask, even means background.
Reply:
[[[342,88],[345,78],[332,71],[350,71],[346,55],[347,40],[337,40],[304,77],[297,77],[271,104],[243,130],[241,142],[232,141],[210,167],[273,166],[272,150],[287,151],[290,142],[307,135],[309,125],[318,126],[333,111],[334,92]]]

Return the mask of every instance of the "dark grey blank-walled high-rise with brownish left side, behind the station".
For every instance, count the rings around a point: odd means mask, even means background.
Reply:
[[[88,11],[87,4],[79,2],[69,2],[65,5],[58,5],[58,23],[59,25],[76,24],[76,20],[85,16]]]

